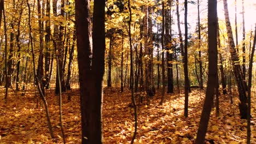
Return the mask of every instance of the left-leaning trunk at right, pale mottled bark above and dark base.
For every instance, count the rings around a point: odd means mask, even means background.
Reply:
[[[226,31],[228,32],[229,51],[231,55],[233,71],[234,71],[238,93],[239,93],[239,99],[240,99],[240,104],[239,104],[240,117],[241,119],[246,119],[247,118],[247,104],[246,104],[247,103],[247,96],[246,96],[247,85],[246,85],[246,82],[243,81],[243,73],[242,73],[241,66],[239,64],[239,58],[235,49],[232,28],[229,20],[227,0],[223,0],[223,4],[224,4],[224,13],[225,13],[225,21],[226,21]]]

